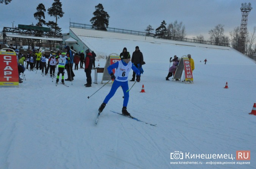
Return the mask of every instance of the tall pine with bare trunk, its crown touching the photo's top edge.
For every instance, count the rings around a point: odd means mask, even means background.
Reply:
[[[48,8],[47,11],[51,17],[55,17],[54,32],[59,32],[61,28],[58,27],[57,21],[59,18],[63,17],[63,14],[64,14],[62,10],[62,3],[60,2],[60,0],[54,0],[54,2],[52,3],[52,7]],[[52,25],[50,23],[51,22],[49,21],[47,25]]]

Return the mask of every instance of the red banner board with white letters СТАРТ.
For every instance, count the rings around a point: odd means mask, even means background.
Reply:
[[[0,51],[0,87],[19,87],[19,73],[15,52]]]

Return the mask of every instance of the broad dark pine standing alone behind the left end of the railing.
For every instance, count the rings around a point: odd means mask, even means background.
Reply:
[[[93,24],[93,28],[96,30],[107,31],[108,20],[110,16],[106,11],[104,11],[103,5],[101,3],[95,6],[93,15],[94,17],[92,17],[90,20],[90,22]]]

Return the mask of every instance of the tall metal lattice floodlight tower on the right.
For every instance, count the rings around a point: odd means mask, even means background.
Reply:
[[[246,34],[247,34],[247,18],[248,14],[250,13],[251,9],[251,3],[242,3],[241,13],[242,13],[242,21],[241,21],[241,27],[240,27],[240,34],[239,34],[239,52],[245,53],[245,44],[246,44]]]

